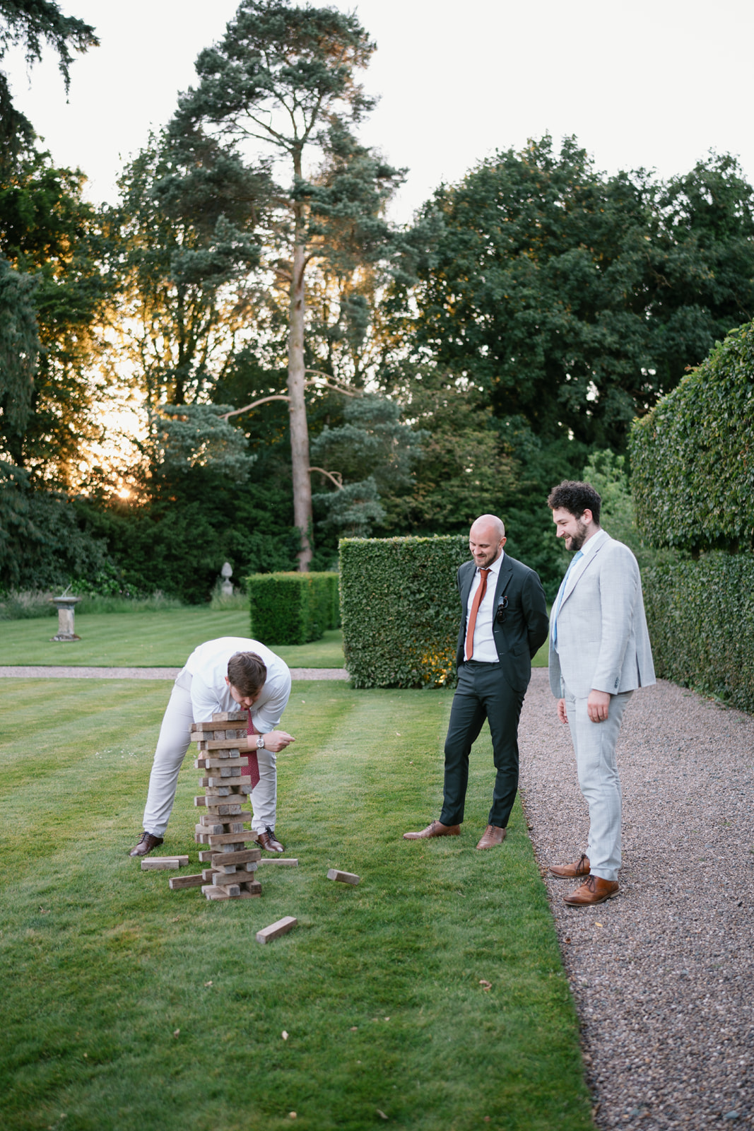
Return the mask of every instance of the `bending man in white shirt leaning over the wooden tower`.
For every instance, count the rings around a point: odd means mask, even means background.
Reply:
[[[283,852],[275,836],[277,768],[275,756],[293,736],[276,729],[291,694],[291,672],[279,656],[259,640],[220,637],[199,645],[179,673],[159,728],[144,811],[144,832],[131,856],[146,856],[162,843],[170,820],[181,763],[191,742],[191,724],[219,711],[249,710],[257,734],[249,749],[259,759],[259,784],[251,792],[251,827],[259,845]],[[259,745],[263,736],[263,745]]]

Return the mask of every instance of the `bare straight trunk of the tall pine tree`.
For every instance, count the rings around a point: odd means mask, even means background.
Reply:
[[[298,570],[307,572],[312,560],[309,534],[312,525],[312,486],[309,477],[309,428],[304,400],[304,215],[296,205],[296,235],[293,249],[291,313],[288,334],[288,413],[291,414],[291,459],[293,464],[293,523],[301,533]]]

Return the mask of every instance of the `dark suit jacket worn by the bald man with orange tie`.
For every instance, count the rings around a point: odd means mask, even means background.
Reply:
[[[466,641],[466,618],[469,590],[476,573],[474,562],[463,562],[456,577],[461,595],[461,627],[458,633],[456,666],[463,663]],[[503,558],[495,587],[495,610],[508,597],[505,619],[502,623],[495,616],[492,634],[497,657],[505,680],[519,694],[523,694],[531,679],[531,659],[547,639],[549,621],[545,592],[539,576],[532,569],[508,554]]]

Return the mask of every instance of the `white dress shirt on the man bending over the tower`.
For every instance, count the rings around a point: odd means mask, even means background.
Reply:
[[[259,640],[220,637],[200,644],[189,656],[185,670],[191,674],[191,703],[196,723],[207,722],[219,711],[243,710],[225,682],[227,663],[236,651],[254,651],[267,667],[267,680],[252,705],[251,717],[260,734],[274,731],[280,722],[291,694],[291,672],[279,656]]]

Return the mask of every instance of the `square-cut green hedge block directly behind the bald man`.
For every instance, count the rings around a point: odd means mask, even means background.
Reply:
[[[454,677],[456,571],[468,535],[341,538],[340,607],[355,688],[443,687]]]

